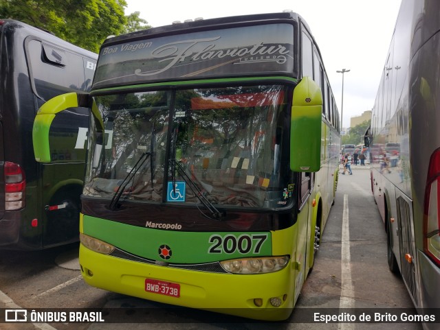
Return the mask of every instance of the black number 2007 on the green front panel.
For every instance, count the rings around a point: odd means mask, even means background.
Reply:
[[[235,235],[212,235],[209,238],[209,242],[212,243],[209,247],[208,253],[232,253],[238,251],[242,255],[245,255],[252,251],[252,253],[259,253],[261,246],[267,239],[267,234],[243,234],[239,237]]]

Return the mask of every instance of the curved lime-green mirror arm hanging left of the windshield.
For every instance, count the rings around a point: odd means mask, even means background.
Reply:
[[[52,161],[49,132],[52,121],[56,115],[67,108],[89,108],[89,99],[88,94],[66,93],[53,97],[41,106],[35,116],[34,127],[32,128],[32,143],[34,145],[34,156],[37,162],[50,163]],[[92,107],[92,112],[95,114],[97,109],[93,109]]]

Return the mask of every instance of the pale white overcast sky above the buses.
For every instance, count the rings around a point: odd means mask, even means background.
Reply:
[[[126,14],[140,12],[152,27],[186,19],[213,19],[293,10],[303,16],[320,48],[343,126],[371,110],[401,0],[126,0]],[[162,3],[162,5],[161,5]],[[344,104],[342,74],[344,73]]]

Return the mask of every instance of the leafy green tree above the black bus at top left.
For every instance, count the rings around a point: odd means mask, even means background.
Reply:
[[[110,35],[146,28],[138,12],[125,16],[125,0],[1,0],[0,17],[48,30],[79,47],[98,52]]]

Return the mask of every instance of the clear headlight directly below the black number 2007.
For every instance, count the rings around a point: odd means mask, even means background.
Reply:
[[[289,262],[287,255],[282,257],[245,258],[220,261],[226,272],[233,274],[264,274],[277,272]]]

